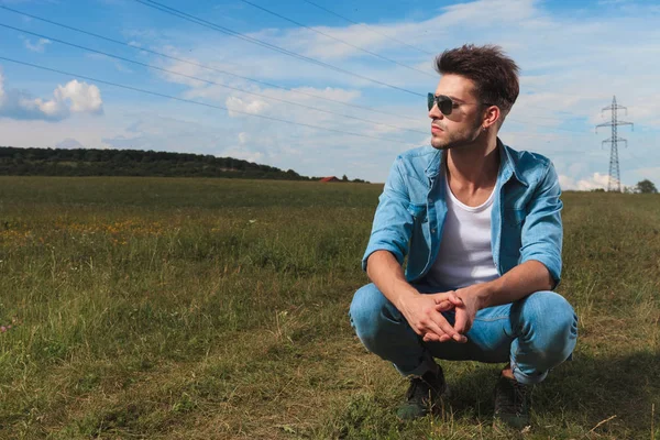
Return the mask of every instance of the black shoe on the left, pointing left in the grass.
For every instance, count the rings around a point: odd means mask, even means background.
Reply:
[[[424,417],[433,411],[440,397],[447,391],[444,374],[440,365],[436,373],[428,372],[424,376],[413,376],[406,393],[406,403],[398,408],[396,415],[403,420]]]

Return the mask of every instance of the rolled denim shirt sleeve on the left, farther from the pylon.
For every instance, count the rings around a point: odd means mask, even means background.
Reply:
[[[414,218],[408,211],[410,198],[400,165],[402,158],[397,157],[378,198],[371,237],[362,258],[363,271],[366,271],[369,256],[376,251],[389,251],[400,265],[408,254]]]

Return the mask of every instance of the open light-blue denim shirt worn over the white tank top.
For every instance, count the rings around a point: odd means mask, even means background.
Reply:
[[[499,275],[530,260],[542,263],[556,284],[561,277],[561,190],[550,160],[518,152],[497,140],[499,170],[491,217],[491,248]],[[444,155],[432,146],[400,154],[374,216],[362,260],[389,251],[406,265],[406,279],[419,282],[431,268],[447,216]]]

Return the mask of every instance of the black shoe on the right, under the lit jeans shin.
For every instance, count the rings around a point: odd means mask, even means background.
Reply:
[[[529,425],[532,385],[522,385],[515,378],[499,376],[495,386],[494,417],[513,428]]]

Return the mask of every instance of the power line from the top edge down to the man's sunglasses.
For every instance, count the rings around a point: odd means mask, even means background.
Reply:
[[[188,13],[186,13],[186,12],[179,11],[179,10],[177,10],[177,9],[175,9],[175,8],[167,7],[167,6],[165,6],[165,4],[158,3],[158,2],[156,2],[156,1],[153,1],[153,0],[135,0],[135,1],[136,1],[138,3],[141,3],[141,4],[144,4],[144,6],[146,6],[146,7],[148,7],[148,8],[156,9],[156,10],[158,10],[158,11],[162,11],[162,12],[165,12],[165,13],[167,13],[167,14],[170,14],[170,15],[174,15],[174,16],[178,16],[178,18],[180,18],[180,19],[184,19],[184,20],[186,20],[186,21],[189,21],[189,22],[191,22],[191,23],[196,23],[196,24],[199,24],[199,25],[201,25],[201,26],[205,26],[205,28],[212,29],[212,30],[215,30],[215,31],[218,31],[218,32],[221,32],[221,33],[223,33],[223,34],[231,35],[231,36],[234,36],[234,37],[237,37],[237,38],[240,38],[240,40],[243,40],[243,41],[246,41],[246,42],[250,42],[250,43],[256,44],[256,45],[258,45],[258,46],[262,46],[262,47],[270,48],[270,50],[272,50],[272,51],[278,52],[278,53],[280,53],[280,54],[284,54],[284,55],[292,56],[292,57],[294,57],[294,58],[297,58],[297,59],[302,59],[302,61],[306,61],[306,62],[308,62],[308,63],[316,64],[316,65],[318,65],[318,66],[321,66],[321,67],[326,67],[326,68],[332,69],[332,70],[334,70],[334,72],[339,72],[339,73],[342,73],[342,74],[345,74],[345,75],[350,75],[350,76],[353,76],[353,77],[355,77],[355,78],[364,79],[364,80],[366,80],[366,81],[370,81],[370,82],[373,82],[373,84],[377,84],[377,85],[380,85],[380,86],[388,87],[388,88],[391,88],[391,89],[395,89],[395,90],[404,91],[404,92],[406,92],[406,94],[409,94],[409,95],[415,95],[415,96],[418,96],[418,97],[426,97],[426,95],[418,94],[418,92],[416,92],[416,91],[408,90],[408,89],[405,89],[405,88],[403,88],[403,87],[393,86],[392,84],[383,82],[383,81],[380,81],[380,80],[377,80],[377,79],[374,79],[374,78],[366,77],[366,76],[364,76],[364,75],[355,74],[355,73],[353,73],[353,72],[350,72],[350,70],[343,69],[343,68],[341,68],[341,67],[337,67],[337,66],[334,66],[334,65],[331,65],[331,64],[328,64],[328,63],[321,62],[321,61],[319,61],[319,59],[311,58],[311,57],[309,57],[309,56],[305,56],[305,55],[300,55],[300,54],[298,54],[298,53],[296,53],[296,52],[288,51],[288,50],[286,50],[286,48],[284,48],[284,47],[279,47],[279,46],[277,46],[277,45],[274,45],[274,44],[271,44],[271,43],[266,43],[266,42],[264,42],[264,41],[262,41],[262,40],[253,38],[253,37],[251,37],[251,36],[248,36],[248,35],[245,35],[245,34],[242,34],[242,33],[240,33],[240,32],[232,31],[232,30],[231,30],[231,29],[229,29],[229,28],[224,28],[224,26],[221,26],[221,25],[219,25],[219,24],[212,23],[212,22],[210,22],[210,21],[202,20],[202,19],[200,19],[200,18],[197,18],[197,16],[195,16],[195,15],[190,15],[190,14],[188,14]]]

